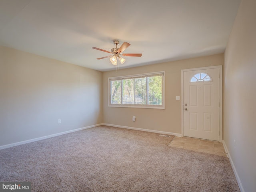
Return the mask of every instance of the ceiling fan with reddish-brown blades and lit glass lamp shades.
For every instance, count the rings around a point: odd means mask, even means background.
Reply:
[[[126,48],[128,48],[128,46],[130,46],[130,43],[124,42],[120,46],[120,48],[118,48],[117,46],[119,45],[119,41],[118,40],[114,40],[113,42],[114,42],[114,45],[116,45],[116,47],[112,48],[111,52],[103,50],[103,49],[100,49],[100,48],[93,47],[93,49],[104,51],[104,52],[112,54],[110,56],[101,57],[101,58],[97,58],[97,59],[104,59],[104,58],[111,57],[110,58],[111,63],[113,65],[116,65],[118,60],[120,61],[121,64],[123,64],[126,61],[124,58],[122,58],[120,56],[132,56],[132,57],[141,57],[142,56],[141,53],[122,53]]]

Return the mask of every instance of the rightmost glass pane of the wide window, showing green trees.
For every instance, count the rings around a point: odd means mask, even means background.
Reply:
[[[162,76],[148,77],[148,104],[162,105]]]

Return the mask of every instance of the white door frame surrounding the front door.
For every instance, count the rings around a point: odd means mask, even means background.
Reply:
[[[204,69],[214,69],[218,68],[220,72],[219,78],[219,142],[222,143],[222,65],[218,66],[209,66],[209,67],[200,67],[200,68],[191,68],[191,69],[182,69],[181,70],[181,136],[184,137],[184,72],[186,71],[196,71]]]

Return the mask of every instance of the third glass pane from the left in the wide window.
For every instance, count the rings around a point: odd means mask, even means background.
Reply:
[[[134,104],[147,104],[147,83],[146,77],[136,78]]]

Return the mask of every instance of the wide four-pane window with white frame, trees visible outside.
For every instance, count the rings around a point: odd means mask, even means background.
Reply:
[[[108,78],[110,107],[164,109],[164,72]]]

